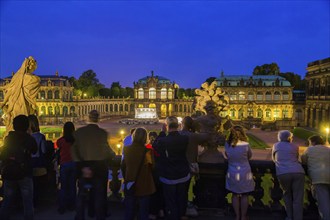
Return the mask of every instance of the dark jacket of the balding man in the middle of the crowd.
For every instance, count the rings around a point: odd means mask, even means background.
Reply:
[[[189,163],[186,157],[189,137],[180,135],[178,131],[169,132],[166,137],[155,140],[153,148],[159,154],[156,159],[156,169],[159,176],[170,180],[186,177]]]

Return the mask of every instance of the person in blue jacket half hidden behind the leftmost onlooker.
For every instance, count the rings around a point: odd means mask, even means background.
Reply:
[[[39,203],[39,197],[42,195],[45,186],[47,185],[47,160],[46,160],[46,137],[40,133],[39,121],[37,116],[29,115],[30,131],[32,137],[37,142],[38,151],[32,154],[33,167],[33,188],[34,188],[34,205]]]

